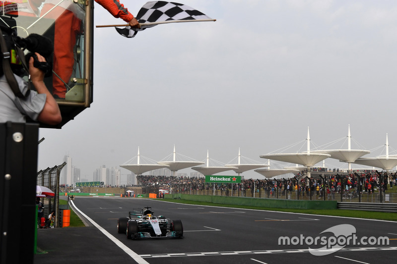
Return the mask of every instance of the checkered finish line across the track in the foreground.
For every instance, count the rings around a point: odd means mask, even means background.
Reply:
[[[389,251],[397,250],[397,247],[371,247],[371,248],[343,248],[337,252],[348,251]],[[321,252],[336,252],[334,249],[319,250]],[[223,251],[223,252],[196,252],[196,253],[170,253],[139,255],[141,258],[173,258],[173,257],[202,257],[202,256],[230,256],[230,255],[255,255],[255,254],[283,254],[283,253],[309,253],[309,249],[289,250],[254,250],[254,251]]]

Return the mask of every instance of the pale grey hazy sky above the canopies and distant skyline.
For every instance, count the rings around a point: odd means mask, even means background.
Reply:
[[[121,2],[136,14],[146,1]],[[209,150],[228,163],[240,148],[267,163],[259,156],[305,140],[307,127],[321,146],[348,124],[366,150],[387,133],[391,151],[397,145],[395,0],[179,2],[217,21],[158,25],[132,39],[94,29],[94,102],[62,129],[40,129],[41,169],[69,155],[91,180],[138,147],[159,161],[174,144],[200,161]],[[95,25],[123,24],[96,3],[94,14]],[[122,168],[122,181],[129,173]]]

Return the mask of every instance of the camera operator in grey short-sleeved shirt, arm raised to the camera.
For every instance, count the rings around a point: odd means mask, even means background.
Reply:
[[[46,61],[39,53],[35,53],[39,62]],[[0,54],[0,58],[2,55]],[[34,58],[29,60],[29,74],[36,91],[30,91],[25,98],[19,98],[12,92],[3,72],[0,72],[0,123],[26,122],[26,116],[34,121],[49,125],[57,125],[62,121],[61,111],[51,93],[44,84],[44,72],[33,65]],[[27,83],[15,75],[19,89],[26,89]]]

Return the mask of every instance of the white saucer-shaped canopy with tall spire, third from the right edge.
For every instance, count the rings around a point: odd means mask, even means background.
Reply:
[[[311,153],[310,152],[310,135],[309,127],[307,128],[307,152],[305,153],[279,153],[279,154],[266,154],[261,155],[260,158],[274,159],[278,161],[284,161],[289,163],[297,163],[304,165],[308,168],[307,176],[310,177],[310,167],[313,167],[316,163],[330,158],[329,154],[322,153]]]

